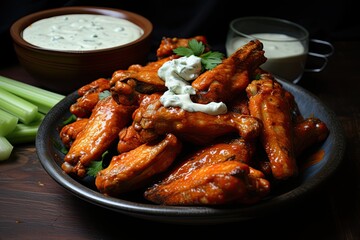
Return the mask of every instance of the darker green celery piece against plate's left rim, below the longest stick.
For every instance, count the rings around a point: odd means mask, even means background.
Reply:
[[[35,121],[30,124],[18,123],[15,129],[6,138],[13,145],[20,143],[31,143],[35,141],[38,128],[44,119],[44,114],[39,113]]]

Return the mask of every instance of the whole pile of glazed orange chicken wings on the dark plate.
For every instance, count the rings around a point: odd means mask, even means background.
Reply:
[[[252,40],[191,82],[193,102],[223,102],[221,115],[164,107],[167,90],[157,71],[179,58],[173,50],[189,39],[163,38],[157,60],[117,70],[78,89],[61,127],[68,149],[62,169],[84,178],[93,161],[115,149],[95,177],[97,190],[121,197],[142,191],[163,205],[254,204],[274,186],[299,175],[299,156],[324,141],[329,130],[304,118],[294,96],[260,65],[263,45]],[[209,45],[204,36],[194,37]],[[110,94],[100,97],[108,91]]]

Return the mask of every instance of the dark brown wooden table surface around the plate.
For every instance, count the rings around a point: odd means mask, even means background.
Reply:
[[[325,71],[305,74],[299,83],[335,111],[347,148],[333,178],[294,208],[267,218],[212,226],[134,218],[72,195],[42,168],[34,144],[25,144],[16,146],[11,158],[0,163],[0,239],[122,239],[144,234],[152,238],[360,239],[359,44],[334,42],[335,53]],[[0,75],[34,83],[16,65],[1,68]]]

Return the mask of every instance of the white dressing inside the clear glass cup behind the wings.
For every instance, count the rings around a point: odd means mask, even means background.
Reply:
[[[261,65],[262,69],[290,81],[302,75],[307,57],[306,43],[303,44],[296,38],[279,33],[257,33],[252,34],[251,37],[263,43],[267,60]],[[226,43],[227,55],[230,56],[249,41],[249,38],[244,37],[229,40]]]

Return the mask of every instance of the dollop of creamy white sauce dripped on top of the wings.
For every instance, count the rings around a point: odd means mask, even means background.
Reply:
[[[210,115],[224,114],[227,107],[222,102],[199,104],[191,101],[190,95],[196,94],[190,82],[201,74],[201,58],[191,55],[164,63],[158,75],[168,88],[161,96],[164,107],[180,107],[188,112],[204,112]]]

